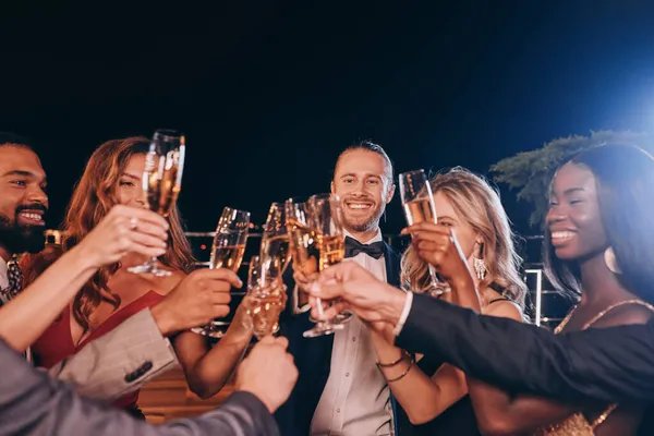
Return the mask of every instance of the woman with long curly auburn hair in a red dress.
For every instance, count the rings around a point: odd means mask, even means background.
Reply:
[[[114,205],[147,208],[141,180],[148,148],[147,138],[128,137],[108,141],[95,150],[69,204],[61,246],[50,245],[40,254],[23,258],[26,284],[82,241]],[[128,268],[146,261],[136,253],[129,253],[119,263],[100,268],[34,344],[35,359],[40,366],[50,367],[61,362],[130,316],[152,307],[193,270],[194,258],[177,207],[167,220],[168,247],[158,258],[157,266],[171,275],[155,277],[129,272]],[[237,318],[240,316],[243,316],[242,311],[237,312]],[[227,383],[251,339],[242,324],[233,323],[214,349],[198,335],[182,332],[177,336],[175,352],[192,390],[208,397]],[[143,416],[136,405],[137,399],[138,392],[130,393],[117,400],[114,405]]]

